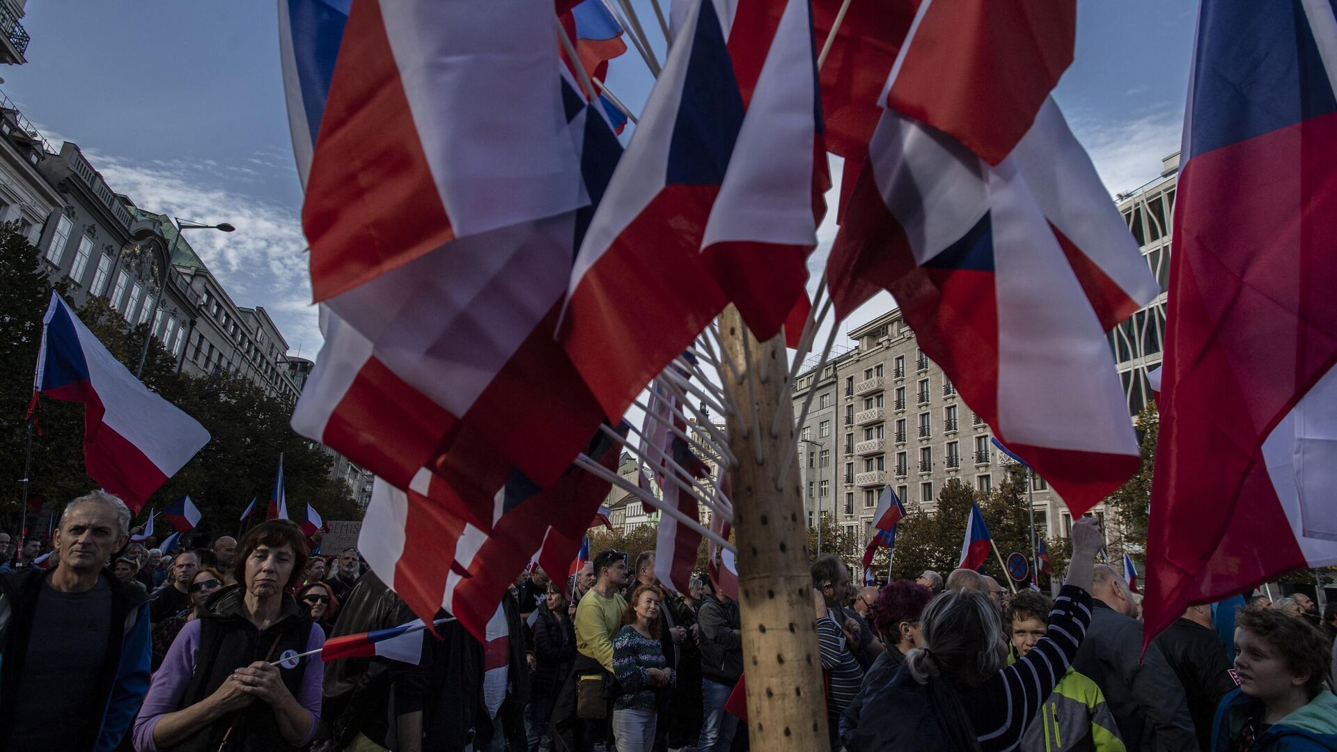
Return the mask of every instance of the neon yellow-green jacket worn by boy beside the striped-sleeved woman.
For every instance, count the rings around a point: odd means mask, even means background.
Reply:
[[[1124,752],[1104,694],[1086,674],[1070,668],[1025,733],[1021,752]]]

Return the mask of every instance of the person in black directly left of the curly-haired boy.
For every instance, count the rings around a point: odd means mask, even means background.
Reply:
[[[1157,637],[1157,644],[1183,686],[1185,702],[1198,736],[1198,749],[1207,752],[1217,705],[1235,688],[1230,662],[1226,661],[1211,624],[1211,606],[1189,606],[1182,617]]]

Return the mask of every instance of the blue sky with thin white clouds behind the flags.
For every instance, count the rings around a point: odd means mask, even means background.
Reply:
[[[648,0],[635,4],[662,60]],[[1076,60],[1055,96],[1111,193],[1154,178],[1178,149],[1195,12],[1189,0],[1078,3]],[[191,240],[239,305],[265,306],[290,352],[312,355],[320,332],[274,0],[33,0],[23,24],[29,62],[0,68],[0,90],[140,206],[237,225]],[[608,75],[634,110],[651,83],[634,50]],[[846,324],[889,305],[876,298]]]

